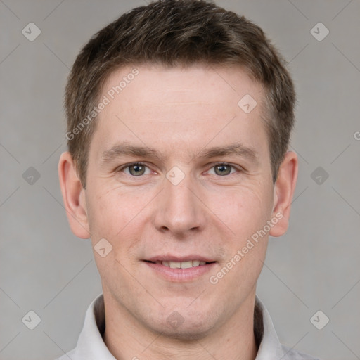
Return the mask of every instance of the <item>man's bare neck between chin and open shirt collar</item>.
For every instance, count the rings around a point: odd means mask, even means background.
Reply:
[[[104,293],[105,334],[103,340],[117,360],[254,360],[255,294],[248,297],[229,321],[213,332],[193,340],[169,338],[143,326],[110,294]]]

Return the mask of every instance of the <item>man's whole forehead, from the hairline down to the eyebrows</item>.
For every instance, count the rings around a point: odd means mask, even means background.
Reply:
[[[264,90],[240,67],[120,68],[105,82],[105,98],[94,134],[105,148],[121,139],[159,150],[188,146],[193,152],[239,136],[245,145],[254,145],[255,138],[257,146],[266,142]]]

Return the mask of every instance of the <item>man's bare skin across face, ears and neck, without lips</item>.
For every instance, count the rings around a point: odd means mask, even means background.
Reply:
[[[269,235],[288,229],[297,157],[286,153],[273,184],[264,92],[241,68],[136,68],[139,75],[98,115],[86,189],[69,153],[59,163],[73,233],[91,234],[93,246],[101,238],[113,246],[106,257],[94,251],[105,300],[105,343],[116,359],[255,359],[257,278]],[[113,72],[103,95],[129,72]],[[257,101],[248,114],[238,106],[245,94]],[[160,158],[109,156],[108,150],[124,142],[148,146]],[[233,143],[252,149],[255,158],[200,157]],[[131,175],[129,167],[122,168],[129,162],[143,162],[146,172]],[[232,165],[221,168],[230,173],[215,172],[218,162]],[[174,166],[184,174],[177,185],[166,177]],[[279,213],[283,217],[270,232],[217,284],[210,283]],[[191,281],[167,281],[143,262],[160,254],[200,254],[217,263]],[[167,322],[174,311],[183,319],[176,328]]]

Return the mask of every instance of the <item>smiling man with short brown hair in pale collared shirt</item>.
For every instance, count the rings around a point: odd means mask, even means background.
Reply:
[[[255,295],[297,179],[283,63],[204,0],[135,8],[84,46],[59,177],[103,295],[61,359],[314,359],[278,342]]]

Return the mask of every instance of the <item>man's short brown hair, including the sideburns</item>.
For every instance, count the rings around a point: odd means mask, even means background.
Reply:
[[[84,46],[72,66],[65,91],[67,139],[84,187],[96,126],[96,121],[87,121],[84,126],[84,120],[98,102],[111,72],[145,63],[167,67],[240,65],[248,70],[266,91],[264,123],[276,181],[294,123],[295,90],[285,60],[262,29],[243,16],[205,0],[158,0],[134,8],[104,27]],[[79,124],[83,126],[79,128]]]

